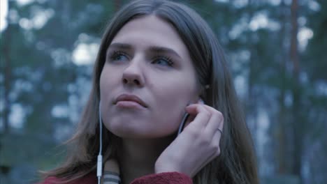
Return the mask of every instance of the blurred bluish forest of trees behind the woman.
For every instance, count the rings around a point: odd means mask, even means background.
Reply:
[[[63,160],[103,29],[127,1],[0,1],[0,183],[35,183]],[[327,1],[182,2],[226,51],[261,183],[326,183]]]

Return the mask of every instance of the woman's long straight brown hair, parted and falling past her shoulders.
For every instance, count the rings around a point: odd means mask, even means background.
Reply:
[[[224,115],[221,154],[194,176],[194,183],[259,183],[251,135],[215,33],[191,8],[164,0],[132,1],[112,18],[96,58],[89,100],[78,130],[69,141],[70,154],[61,167],[49,171],[45,176],[71,181],[95,171],[96,155],[99,152],[99,79],[106,61],[106,50],[126,22],[143,15],[156,15],[176,29],[187,45],[198,82],[203,87],[201,98],[205,104]],[[116,157],[119,141],[108,130],[103,131],[103,160]]]

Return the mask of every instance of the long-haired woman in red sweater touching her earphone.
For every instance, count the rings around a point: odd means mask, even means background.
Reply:
[[[224,54],[191,8],[124,6],[103,35],[93,79],[68,159],[43,183],[259,183]]]

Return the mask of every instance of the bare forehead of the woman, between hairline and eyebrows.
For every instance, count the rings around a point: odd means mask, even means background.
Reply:
[[[118,31],[112,43],[128,43],[139,47],[167,47],[179,54],[188,55],[187,47],[175,28],[155,15],[145,15],[127,22]]]

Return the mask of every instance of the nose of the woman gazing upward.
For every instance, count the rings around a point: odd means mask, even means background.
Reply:
[[[126,85],[143,86],[144,77],[142,67],[138,61],[131,61],[129,66],[124,69],[122,82]]]

